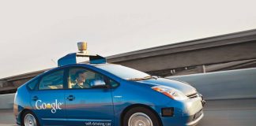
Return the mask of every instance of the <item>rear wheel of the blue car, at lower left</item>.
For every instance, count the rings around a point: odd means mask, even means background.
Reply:
[[[22,116],[22,126],[39,126],[39,122],[36,118],[36,115],[31,111],[24,112]]]

